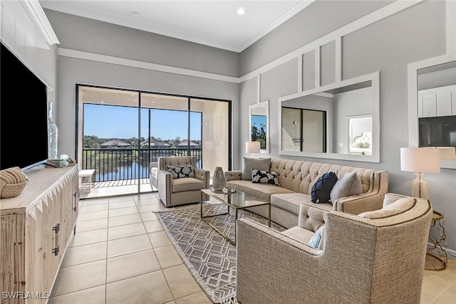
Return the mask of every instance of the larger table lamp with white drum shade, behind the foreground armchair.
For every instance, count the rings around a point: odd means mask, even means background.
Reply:
[[[400,148],[400,170],[415,172],[412,196],[429,199],[429,188],[424,173],[440,173],[440,152],[437,149]]]

